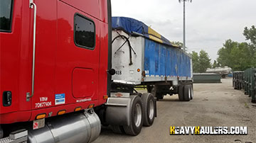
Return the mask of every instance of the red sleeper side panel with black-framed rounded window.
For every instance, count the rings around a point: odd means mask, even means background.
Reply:
[[[65,95],[65,103],[97,100],[99,16],[98,1],[58,1],[55,89]]]

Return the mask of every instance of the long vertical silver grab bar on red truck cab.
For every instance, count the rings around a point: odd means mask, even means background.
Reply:
[[[32,87],[31,94],[26,94],[26,101],[30,101],[30,98],[34,95],[34,84],[35,84],[35,56],[36,56],[36,4],[33,0],[29,0],[29,8],[34,10],[33,14],[33,64],[32,64]]]

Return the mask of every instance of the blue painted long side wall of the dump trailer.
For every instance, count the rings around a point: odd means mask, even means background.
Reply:
[[[191,58],[176,47],[145,38],[144,70],[149,76],[191,76]]]

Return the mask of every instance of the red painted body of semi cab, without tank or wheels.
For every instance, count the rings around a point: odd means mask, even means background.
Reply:
[[[0,3],[0,124],[106,102],[106,0]]]

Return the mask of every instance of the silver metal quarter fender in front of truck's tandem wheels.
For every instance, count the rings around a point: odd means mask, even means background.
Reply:
[[[106,109],[106,122],[109,125],[130,124],[131,99],[130,98],[108,98]]]

